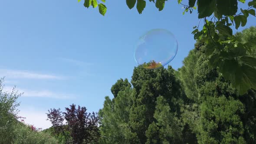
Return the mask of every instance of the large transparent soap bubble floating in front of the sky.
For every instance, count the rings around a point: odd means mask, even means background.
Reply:
[[[171,62],[178,51],[174,35],[166,29],[152,29],[142,35],[135,49],[135,60],[145,69],[158,69]]]

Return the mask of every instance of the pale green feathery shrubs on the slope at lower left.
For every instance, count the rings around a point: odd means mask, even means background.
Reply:
[[[15,88],[10,93],[4,92],[0,79],[0,144],[57,144],[54,137],[17,120],[20,104],[17,98],[21,95]]]

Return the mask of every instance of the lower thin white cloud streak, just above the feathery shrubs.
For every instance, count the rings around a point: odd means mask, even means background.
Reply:
[[[4,92],[12,92],[13,87],[11,86],[5,86],[3,88]],[[27,90],[27,89],[21,89],[21,88],[15,88],[18,93],[23,93],[22,97],[38,97],[38,98],[56,98],[56,99],[70,99],[74,98],[74,96],[71,95],[64,95],[64,94],[58,94],[55,92],[51,92],[49,90],[43,90],[43,91],[34,91],[34,90]]]

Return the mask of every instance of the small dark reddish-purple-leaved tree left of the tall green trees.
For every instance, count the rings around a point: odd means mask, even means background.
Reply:
[[[100,136],[97,113],[87,113],[85,107],[78,106],[76,108],[74,104],[65,109],[66,112],[63,113],[60,109],[51,109],[47,114],[56,131],[63,131],[62,124],[65,118],[67,130],[72,137],[73,144],[96,142]]]

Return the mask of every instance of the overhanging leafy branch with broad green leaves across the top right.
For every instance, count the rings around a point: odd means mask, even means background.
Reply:
[[[80,1],[80,0],[79,0]],[[102,0],[105,2],[105,0]],[[164,9],[167,0],[149,0],[155,3],[155,7],[159,11]],[[256,0],[247,3],[248,9],[240,9],[237,14],[238,1],[245,3],[246,0],[188,0],[188,5],[177,2],[184,6],[185,12],[193,9],[198,12],[198,19],[204,19],[203,29],[199,31],[198,26],[194,26],[194,39],[203,41],[206,49],[205,54],[209,59],[209,66],[217,68],[223,74],[226,80],[229,80],[238,90],[239,95],[243,95],[247,90],[256,89],[256,58],[248,56],[252,46],[256,45],[256,40],[249,43],[240,43],[230,28],[235,23],[235,28],[245,26],[249,15],[256,16]],[[85,0],[85,7],[97,5],[96,0]],[[136,4],[137,2],[137,4]],[[138,13],[142,13],[146,7],[145,0],[126,0],[129,9],[135,7]],[[101,6],[100,6],[101,5]],[[103,4],[99,4],[99,12],[105,15],[107,8]],[[207,18],[212,18],[210,21]],[[214,18],[214,19],[213,19]],[[212,21],[214,20],[214,21]]]

